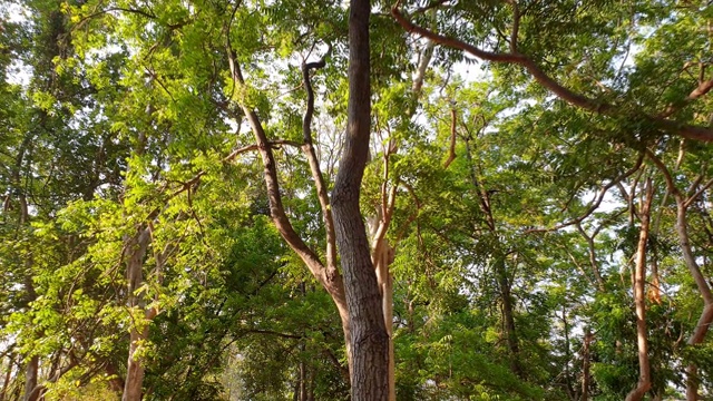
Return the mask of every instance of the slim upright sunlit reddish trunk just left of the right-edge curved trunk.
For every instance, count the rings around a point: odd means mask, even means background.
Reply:
[[[636,339],[638,348],[638,383],[626,395],[626,401],[643,400],[651,389],[651,365],[648,362],[648,334],[646,332],[646,247],[651,223],[651,204],[654,189],[651,178],[646,180],[646,189],[638,212],[642,226],[636,246],[636,266],[634,267],[634,304],[636,305]]]

